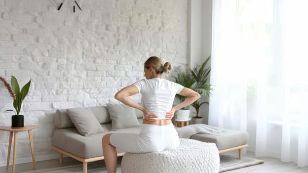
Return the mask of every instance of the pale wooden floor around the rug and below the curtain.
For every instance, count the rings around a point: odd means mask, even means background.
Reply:
[[[254,153],[247,153],[244,154],[243,156],[263,160],[264,164],[233,170],[227,173],[308,173],[308,167],[300,168],[293,162],[286,163],[286,162],[281,162],[279,159],[276,158],[255,157]],[[97,162],[104,162],[104,161],[97,161]],[[77,165],[77,164],[82,165],[81,162],[78,162],[75,159],[63,158],[62,165],[59,164],[59,159],[54,159],[54,160],[36,162],[36,168],[37,170],[40,170],[47,168]],[[15,166],[15,173],[31,171],[32,169],[33,169],[32,163],[19,164]],[[0,173],[12,173],[12,166],[9,167],[8,171],[6,171],[6,167],[0,167]]]

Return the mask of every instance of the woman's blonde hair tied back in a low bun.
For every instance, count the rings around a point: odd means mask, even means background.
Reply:
[[[166,62],[164,65],[162,65],[162,60],[156,56],[151,56],[150,58],[148,58],[144,66],[145,68],[153,67],[156,74],[169,74],[172,70],[172,64],[170,62]]]

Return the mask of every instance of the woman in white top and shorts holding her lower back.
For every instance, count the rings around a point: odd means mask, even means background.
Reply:
[[[144,63],[146,79],[119,90],[115,98],[120,102],[139,109],[144,113],[140,134],[109,133],[103,136],[102,145],[108,173],[116,173],[116,148],[131,153],[146,153],[169,150],[179,146],[179,136],[171,119],[178,109],[192,104],[200,95],[190,88],[162,78],[169,74],[172,64],[162,65],[160,58],[152,56]],[[141,93],[141,103],[134,102],[129,96]],[[175,94],[187,96],[185,101],[173,106]]]

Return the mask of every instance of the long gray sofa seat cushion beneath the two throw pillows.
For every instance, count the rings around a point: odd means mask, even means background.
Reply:
[[[90,136],[80,135],[76,128],[56,129],[53,133],[52,146],[80,158],[98,157],[103,155],[102,137],[105,134],[117,132],[139,133],[140,127],[105,131]],[[117,152],[124,151],[117,150]]]

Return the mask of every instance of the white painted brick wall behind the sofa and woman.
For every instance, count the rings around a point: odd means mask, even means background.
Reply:
[[[0,76],[32,81],[21,112],[25,125],[39,125],[33,133],[41,160],[56,153],[56,109],[114,101],[118,89],[143,78],[149,56],[188,63],[188,0],[83,0],[76,13],[71,1],[58,11],[59,0],[0,0]],[[12,100],[0,83],[0,126],[10,126],[6,109]],[[0,131],[0,166],[8,135]],[[17,163],[31,158],[26,132],[17,145]]]

